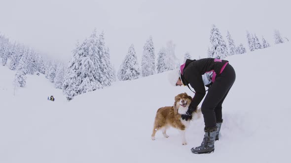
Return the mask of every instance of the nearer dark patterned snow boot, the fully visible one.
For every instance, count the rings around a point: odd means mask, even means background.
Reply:
[[[214,152],[214,142],[217,127],[204,129],[205,135],[199,147],[192,148],[191,151],[195,154],[212,153]]]

